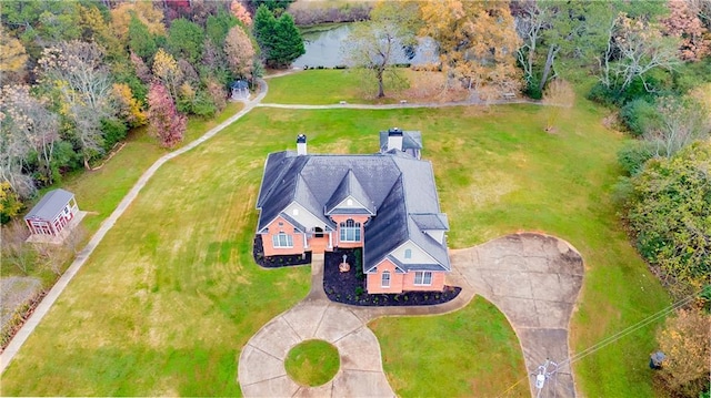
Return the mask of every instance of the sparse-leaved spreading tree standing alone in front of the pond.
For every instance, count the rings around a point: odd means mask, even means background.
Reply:
[[[341,48],[346,63],[378,82],[378,98],[385,96],[385,78],[394,75],[394,64],[404,58],[403,48],[417,44],[420,21],[415,2],[380,1],[370,22],[356,25]]]

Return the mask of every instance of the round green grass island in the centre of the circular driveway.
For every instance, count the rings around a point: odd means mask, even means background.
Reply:
[[[327,384],[341,366],[338,349],[324,340],[302,341],[287,355],[287,374],[302,386],[317,387]]]

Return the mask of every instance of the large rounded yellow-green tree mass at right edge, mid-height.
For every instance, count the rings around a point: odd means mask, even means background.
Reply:
[[[632,177],[627,221],[637,247],[674,292],[711,283],[711,143],[650,161]]]

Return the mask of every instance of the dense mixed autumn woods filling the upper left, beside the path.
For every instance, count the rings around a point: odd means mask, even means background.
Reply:
[[[173,147],[189,115],[226,106],[230,82],[291,63],[303,43],[290,2],[3,2],[2,222],[38,187],[91,169],[130,129],[147,125]]]

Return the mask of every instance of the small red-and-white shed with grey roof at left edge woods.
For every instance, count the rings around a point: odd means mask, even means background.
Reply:
[[[64,190],[48,192],[24,216],[33,235],[59,235],[79,213],[74,194]]]

